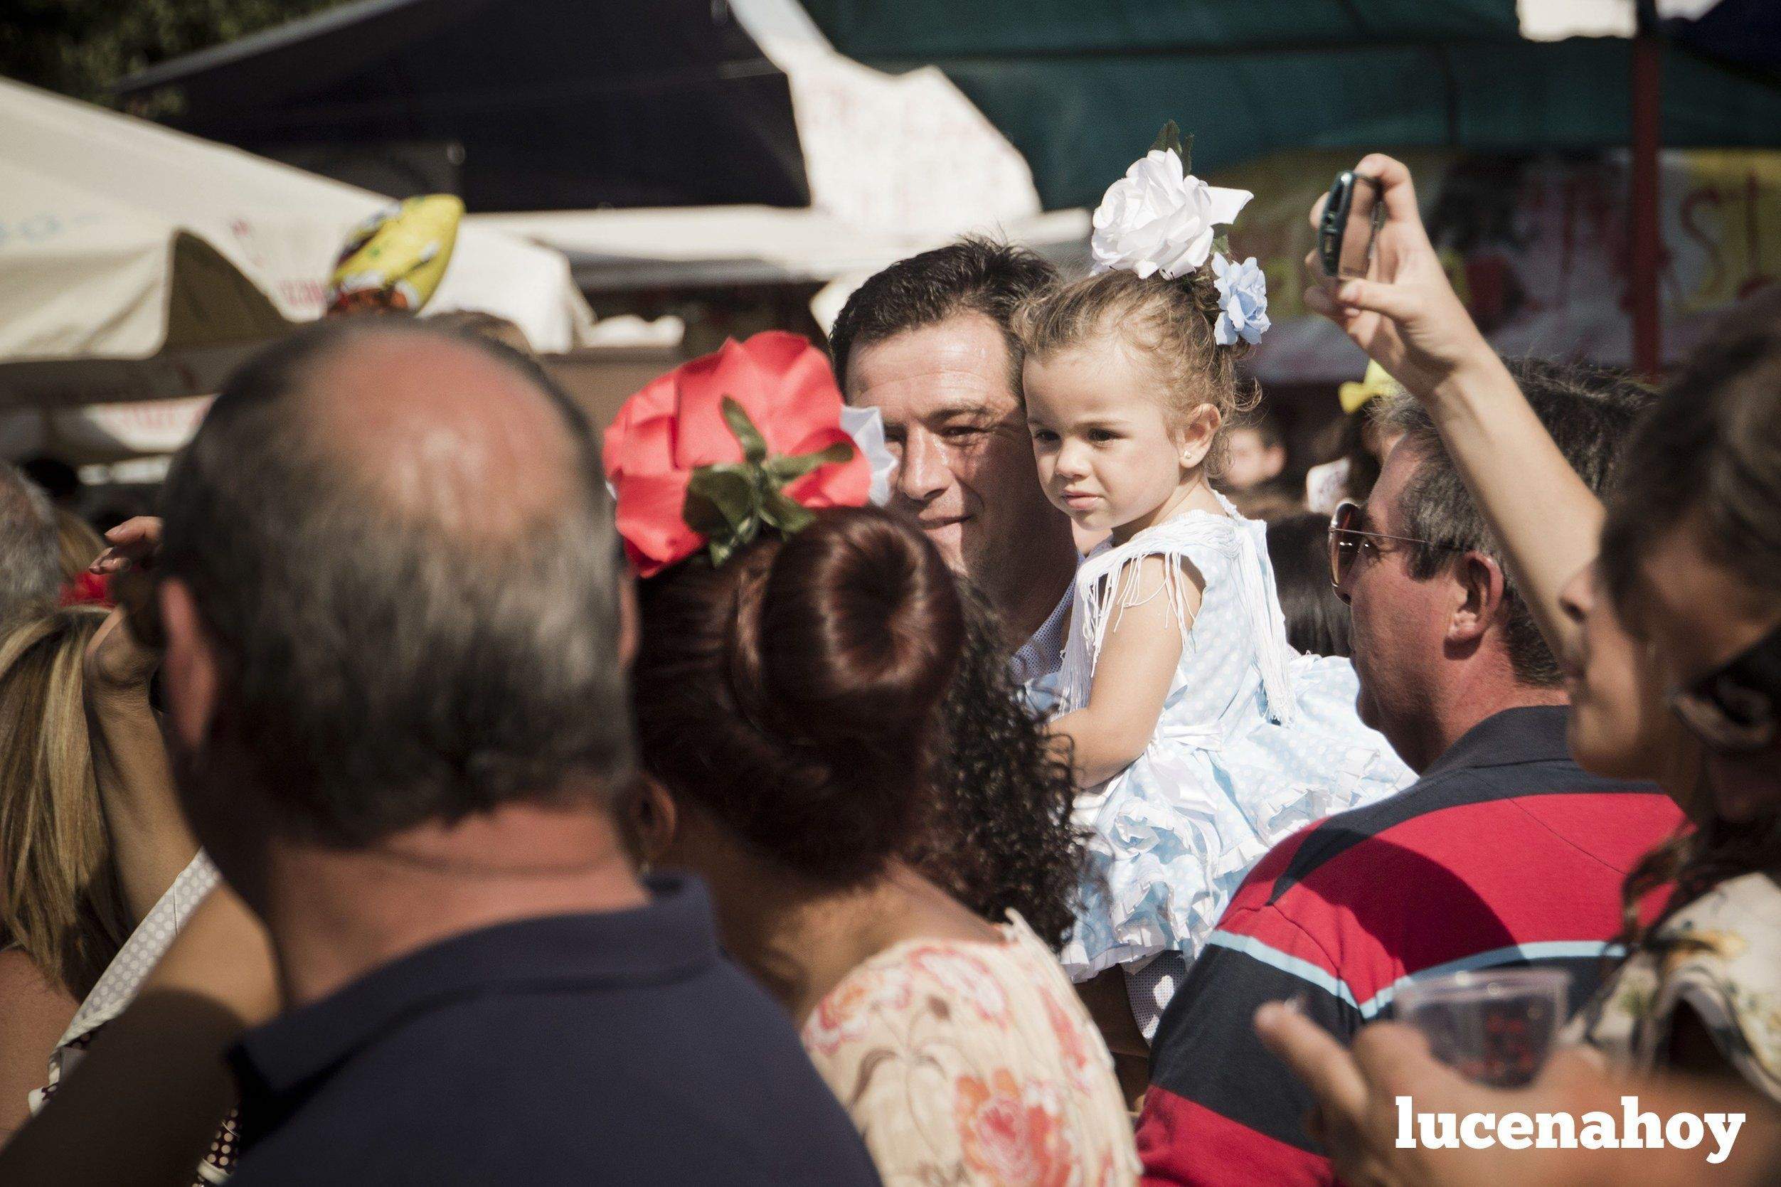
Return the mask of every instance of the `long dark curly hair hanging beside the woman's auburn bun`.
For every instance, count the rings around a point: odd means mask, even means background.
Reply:
[[[926,828],[905,856],[990,922],[1013,908],[1056,949],[1085,868],[1070,767],[1013,683],[996,610],[974,589],[962,594],[965,646],[940,708]]]

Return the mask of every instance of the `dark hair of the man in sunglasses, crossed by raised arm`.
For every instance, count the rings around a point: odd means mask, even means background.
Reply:
[[[1626,372],[1589,363],[1510,359],[1509,370],[1571,468],[1592,491],[1605,491],[1614,479],[1621,443],[1655,399],[1651,388]],[[1464,552],[1482,552],[1500,561],[1501,550],[1453,468],[1428,409],[1409,395],[1400,395],[1380,415],[1387,425],[1403,431],[1398,448],[1411,447],[1421,457],[1398,497],[1402,534],[1448,545],[1405,545],[1411,577],[1428,580],[1457,564]],[[1558,662],[1507,573],[1503,582],[1509,662],[1516,680],[1532,687],[1553,687],[1562,680]]]

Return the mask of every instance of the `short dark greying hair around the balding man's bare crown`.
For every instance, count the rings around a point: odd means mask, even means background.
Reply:
[[[559,504],[465,539],[319,440],[305,384],[379,335],[481,351],[549,399],[575,456]],[[269,829],[363,847],[557,801],[572,774],[607,788],[629,774],[620,553],[597,459],[570,399],[486,338],[328,322],[235,372],[167,477],[159,568],[189,585],[219,651],[214,733],[251,763]]]

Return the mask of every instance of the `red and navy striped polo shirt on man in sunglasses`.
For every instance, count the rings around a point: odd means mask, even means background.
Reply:
[[[1562,707],[1510,708],[1409,788],[1275,845],[1218,922],[1151,1048],[1138,1126],[1147,1183],[1327,1183],[1311,1096],[1256,1039],[1265,1002],[1298,1000],[1338,1038],[1389,1016],[1419,975],[1503,965],[1594,991],[1621,883],[1681,826],[1651,785],[1585,774]]]

